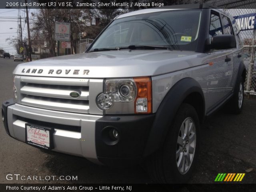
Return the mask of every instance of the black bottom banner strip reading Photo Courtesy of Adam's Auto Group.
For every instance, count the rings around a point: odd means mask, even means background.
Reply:
[[[256,184],[0,184],[1,192],[255,192]]]

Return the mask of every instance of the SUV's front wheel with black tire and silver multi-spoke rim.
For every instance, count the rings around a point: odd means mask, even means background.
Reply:
[[[186,130],[189,130],[187,134]],[[199,145],[198,114],[193,106],[184,103],[176,113],[163,148],[148,161],[152,179],[158,183],[188,182],[196,165]]]

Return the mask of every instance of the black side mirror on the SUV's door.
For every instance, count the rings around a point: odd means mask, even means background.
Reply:
[[[212,49],[236,48],[236,38],[234,35],[216,35],[212,37]]]

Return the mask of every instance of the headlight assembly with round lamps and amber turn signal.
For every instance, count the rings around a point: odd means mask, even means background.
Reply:
[[[106,114],[152,112],[151,78],[107,79],[104,93],[97,98]]]

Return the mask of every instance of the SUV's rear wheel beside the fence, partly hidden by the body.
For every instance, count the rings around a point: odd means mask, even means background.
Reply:
[[[234,89],[234,95],[226,106],[228,112],[232,114],[240,114],[244,105],[244,80],[242,76],[238,82]]]

